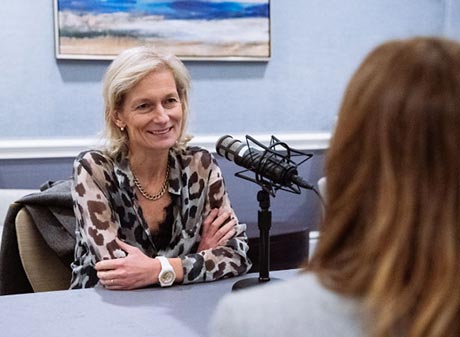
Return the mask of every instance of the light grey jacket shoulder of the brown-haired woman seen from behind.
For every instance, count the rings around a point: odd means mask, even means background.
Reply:
[[[365,336],[359,302],[324,288],[312,273],[226,295],[211,337]]]

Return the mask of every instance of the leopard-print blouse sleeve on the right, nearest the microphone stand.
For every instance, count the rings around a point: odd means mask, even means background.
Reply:
[[[211,209],[219,207],[230,210],[232,216],[237,219],[230,204],[221,170],[212,155],[211,158],[209,187],[205,196],[202,221]],[[246,225],[239,223],[237,219],[235,230],[235,235],[228,240],[225,246],[206,249],[182,258],[184,283],[214,281],[237,276],[246,273],[251,268],[252,263],[246,255],[249,248]]]

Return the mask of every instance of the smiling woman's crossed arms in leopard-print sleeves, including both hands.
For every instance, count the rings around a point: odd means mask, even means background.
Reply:
[[[81,254],[76,254],[74,287],[100,282],[110,289],[133,289],[158,282],[160,262],[140,227],[137,208],[126,195],[112,195],[120,186],[118,178],[107,178],[113,177],[111,165],[101,156],[87,154],[74,166],[72,193],[80,240],[76,252]],[[179,215],[184,228],[173,234],[175,243],[168,247],[169,254],[164,252],[170,257],[176,282],[213,281],[239,275],[251,266],[246,257],[246,226],[234,215],[219,168],[212,167],[210,172],[205,204],[194,210],[196,218],[191,215],[195,206],[183,213],[185,218]],[[125,224],[123,236],[121,223]],[[92,271],[96,280],[91,278]]]

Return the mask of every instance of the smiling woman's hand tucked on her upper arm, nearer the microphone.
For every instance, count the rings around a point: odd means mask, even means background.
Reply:
[[[236,219],[232,212],[214,208],[203,221],[203,232],[198,251],[223,246],[235,235]]]

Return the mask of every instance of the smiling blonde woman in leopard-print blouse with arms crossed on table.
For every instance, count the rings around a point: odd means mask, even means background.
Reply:
[[[251,267],[215,159],[187,147],[189,84],[182,62],[148,47],[108,68],[107,148],[74,164],[71,288],[213,281]]]

